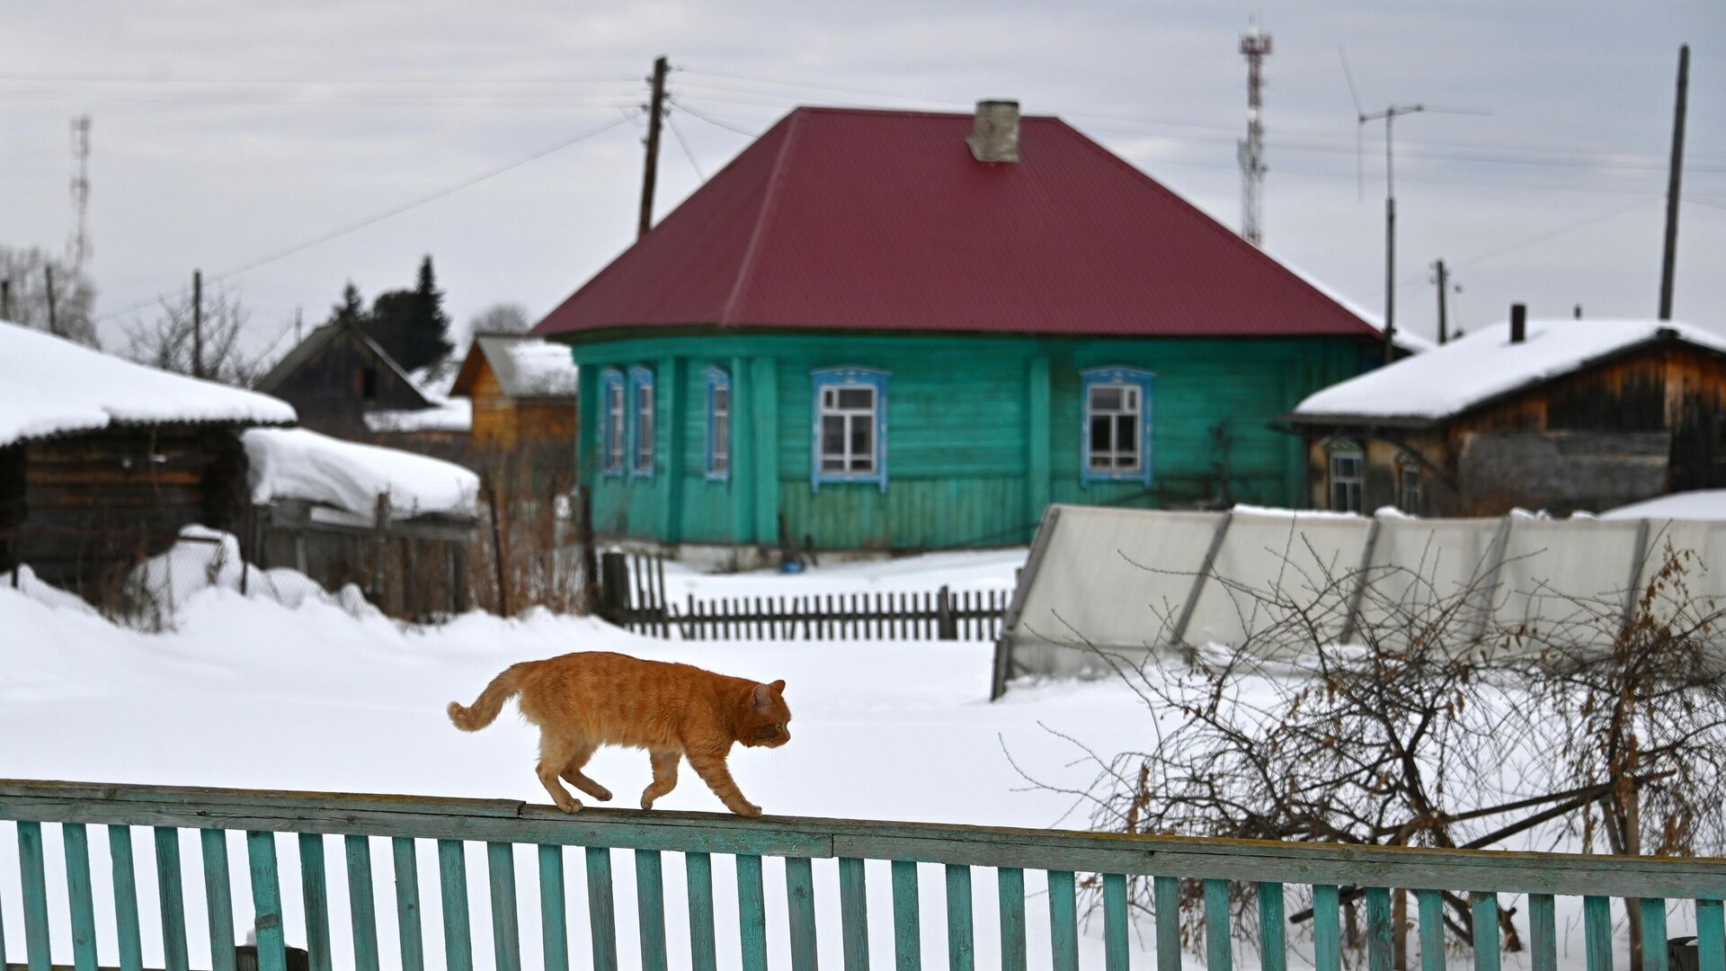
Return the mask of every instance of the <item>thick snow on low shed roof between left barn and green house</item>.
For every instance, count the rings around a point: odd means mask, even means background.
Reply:
[[[392,518],[478,515],[480,477],[450,461],[306,428],[252,428],[242,441],[254,503],[302,499],[369,518],[388,494]]]

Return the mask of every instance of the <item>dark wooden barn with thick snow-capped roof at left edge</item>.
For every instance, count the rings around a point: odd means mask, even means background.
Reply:
[[[0,570],[110,600],[138,560],[202,524],[238,532],[240,432],[293,408],[0,323]]]

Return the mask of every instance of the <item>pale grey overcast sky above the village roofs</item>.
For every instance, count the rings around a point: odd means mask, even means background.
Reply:
[[[1369,111],[1486,112],[1396,124],[1396,316],[1420,333],[1434,328],[1438,257],[1462,287],[1462,327],[1502,318],[1512,301],[1536,316],[1572,304],[1654,316],[1678,47],[1690,43],[1676,316],[1726,332],[1719,0],[5,0],[0,244],[66,247],[69,121],[88,114],[88,270],[109,344],[123,311],[186,287],[193,268],[240,290],[262,347],[292,330],[295,309],[307,330],[323,321],[347,280],[368,299],[409,287],[423,254],[457,323],[501,301],[537,320],[633,238],[644,78],[659,54],[675,98],[661,214],[792,105],[968,111],[1008,97],[1238,228],[1236,48],[1255,10],[1276,45],[1267,249],[1374,313],[1383,123],[1367,128],[1357,194],[1338,50]]]

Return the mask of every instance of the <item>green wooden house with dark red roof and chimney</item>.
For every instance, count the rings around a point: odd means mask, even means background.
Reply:
[[[1269,423],[1379,332],[1055,117],[797,109],[554,309],[602,534],[1025,543],[1288,505]]]

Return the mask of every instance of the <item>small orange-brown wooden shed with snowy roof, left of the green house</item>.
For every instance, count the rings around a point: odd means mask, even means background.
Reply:
[[[570,349],[521,333],[478,333],[450,397],[473,403],[476,463],[509,470],[513,489],[575,486],[576,368]]]

